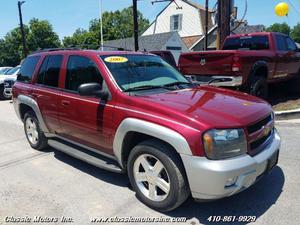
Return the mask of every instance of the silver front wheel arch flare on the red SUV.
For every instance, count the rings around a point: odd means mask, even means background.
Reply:
[[[178,154],[192,155],[186,139],[176,131],[147,121],[127,118],[120,124],[113,143],[114,154],[123,168],[126,167],[132,148],[147,139],[168,145]]]

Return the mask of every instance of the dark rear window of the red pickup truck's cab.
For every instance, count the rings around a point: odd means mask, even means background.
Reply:
[[[245,36],[226,39],[224,50],[266,50],[269,49],[268,36]]]

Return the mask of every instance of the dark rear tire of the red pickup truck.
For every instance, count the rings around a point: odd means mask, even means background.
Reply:
[[[267,99],[269,94],[267,79],[264,77],[254,76],[250,82],[249,94],[262,99]]]

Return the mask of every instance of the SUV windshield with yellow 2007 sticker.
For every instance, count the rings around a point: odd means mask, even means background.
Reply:
[[[171,65],[153,55],[100,56],[123,91],[137,91],[187,84]]]

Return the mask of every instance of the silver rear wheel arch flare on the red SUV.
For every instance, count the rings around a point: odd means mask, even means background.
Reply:
[[[17,98],[14,99],[14,108],[15,108],[15,111],[17,113],[17,116],[21,118],[21,111],[20,111],[20,105],[21,104],[24,104],[24,105],[27,105],[29,106],[30,108],[32,108],[32,110],[35,112],[35,115],[37,116],[37,119],[40,123],[40,127],[41,129],[45,132],[45,133],[49,133],[49,130],[44,122],[44,119],[42,117],[42,113],[40,111],[40,108],[37,104],[37,102],[33,99],[33,98],[30,98],[28,96],[25,96],[25,95],[19,95]]]

